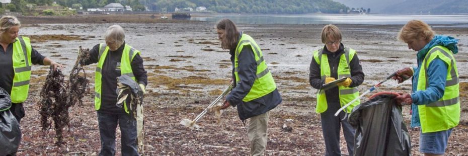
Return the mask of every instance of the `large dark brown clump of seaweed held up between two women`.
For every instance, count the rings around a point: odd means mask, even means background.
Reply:
[[[82,106],[82,99],[89,91],[89,81],[86,79],[85,69],[80,62],[89,59],[89,49],[82,49],[71,70],[68,82],[64,81],[64,75],[60,69],[50,67],[46,82],[41,90],[41,100],[39,101],[41,110],[42,130],[48,130],[52,121],[54,122],[55,137],[57,146],[61,146],[63,141],[62,130],[66,126],[69,128],[68,109],[75,104]],[[83,75],[80,74],[83,71]],[[52,121],[49,121],[52,118]]]

